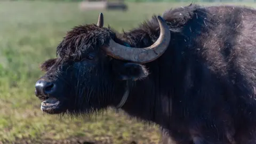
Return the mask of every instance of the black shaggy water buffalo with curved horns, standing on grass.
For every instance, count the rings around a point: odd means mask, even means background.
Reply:
[[[100,14],[97,25],[70,30],[41,68],[36,95],[46,113],[114,106],[161,125],[174,143],[256,143],[256,10],[249,7],[190,4],[123,34],[103,27]]]

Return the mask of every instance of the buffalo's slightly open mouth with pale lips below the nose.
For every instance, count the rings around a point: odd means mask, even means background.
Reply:
[[[56,114],[58,113],[58,108],[60,105],[60,101],[53,97],[46,98],[45,101],[41,103],[41,110],[43,112],[49,113],[49,114]]]

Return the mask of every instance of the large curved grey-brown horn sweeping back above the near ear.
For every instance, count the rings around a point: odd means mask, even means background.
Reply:
[[[171,40],[171,33],[164,19],[157,16],[157,20],[159,22],[160,35],[153,45],[145,48],[126,47],[110,39],[109,46],[103,49],[110,57],[137,63],[147,63],[157,59],[165,52]]]

